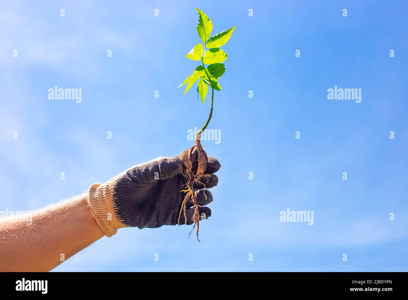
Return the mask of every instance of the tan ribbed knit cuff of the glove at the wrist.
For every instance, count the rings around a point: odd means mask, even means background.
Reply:
[[[115,214],[112,200],[113,185],[115,180],[104,184],[94,183],[89,187],[89,207],[93,217],[106,236],[113,236],[119,228],[126,227]]]

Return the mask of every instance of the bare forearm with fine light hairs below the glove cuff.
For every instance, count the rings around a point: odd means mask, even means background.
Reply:
[[[0,271],[50,271],[104,236],[87,194],[32,212],[0,219]]]

